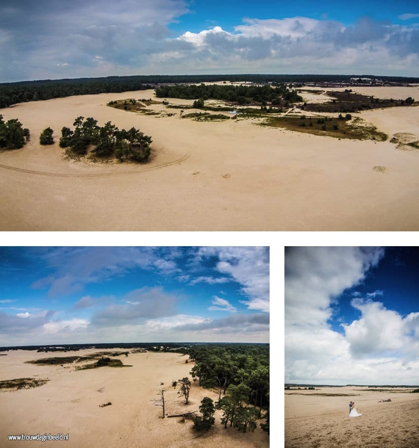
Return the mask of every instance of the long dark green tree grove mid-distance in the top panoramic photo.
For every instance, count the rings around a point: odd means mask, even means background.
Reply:
[[[302,101],[303,98],[295,90],[288,89],[285,84],[279,87],[265,86],[234,86],[234,85],[172,85],[160,86],[156,89],[156,96],[160,98],[181,98],[181,99],[221,99],[224,101],[248,104],[250,102],[271,102],[280,104],[281,102]]]

